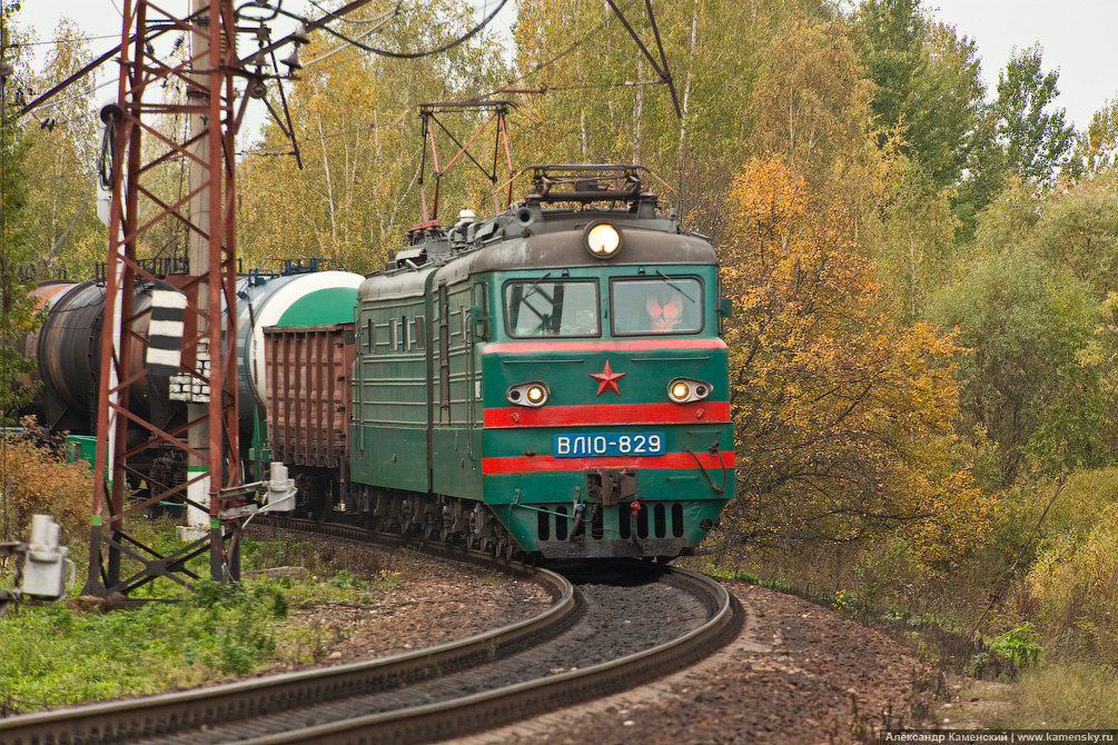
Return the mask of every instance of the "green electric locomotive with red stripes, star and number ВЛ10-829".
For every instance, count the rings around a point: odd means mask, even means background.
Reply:
[[[735,484],[714,249],[639,166],[528,170],[360,286],[342,506],[509,556],[689,553]]]

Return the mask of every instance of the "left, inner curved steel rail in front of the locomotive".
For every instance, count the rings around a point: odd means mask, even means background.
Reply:
[[[561,633],[581,614],[575,589],[565,577],[537,570],[532,579],[556,602],[542,613],[492,631],[361,662],[0,719],[0,745],[160,736],[388,690],[508,657]]]

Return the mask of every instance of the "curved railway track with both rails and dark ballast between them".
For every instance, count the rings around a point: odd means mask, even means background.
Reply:
[[[462,558],[440,544],[435,553]],[[700,659],[740,628],[740,608],[707,577],[636,562],[614,573],[605,583],[571,582],[534,570],[553,604],[487,633],[364,662],[13,717],[0,720],[0,745],[433,742],[631,688]]]

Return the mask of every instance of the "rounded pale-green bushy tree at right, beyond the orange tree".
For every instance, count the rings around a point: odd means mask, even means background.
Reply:
[[[1083,364],[1097,307],[1082,283],[1021,250],[970,262],[936,298],[934,316],[972,350],[960,360],[963,410],[997,442],[1005,485],[1030,458],[1051,471],[1112,458],[1100,370]]]

